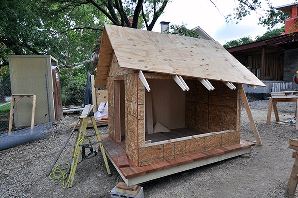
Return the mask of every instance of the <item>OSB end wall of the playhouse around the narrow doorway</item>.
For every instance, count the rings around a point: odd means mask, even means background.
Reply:
[[[145,143],[144,87],[138,73],[132,69],[120,68],[115,54],[111,60],[108,77],[109,136],[116,141],[114,81],[124,80],[125,89],[125,147],[127,156],[138,165],[138,142]],[[138,86],[137,86],[138,85]],[[137,100],[138,98],[138,100]],[[137,101],[139,101],[137,103]],[[139,118],[139,119],[138,119]],[[140,135],[138,134],[138,130]]]

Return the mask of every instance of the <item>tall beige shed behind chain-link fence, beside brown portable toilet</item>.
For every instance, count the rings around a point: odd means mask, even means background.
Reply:
[[[9,69],[12,94],[36,95],[34,125],[51,122],[50,94],[47,90],[50,90],[52,76],[48,76],[47,57],[11,56]],[[23,99],[17,103],[14,109],[15,127],[30,126],[31,112],[30,100]]]

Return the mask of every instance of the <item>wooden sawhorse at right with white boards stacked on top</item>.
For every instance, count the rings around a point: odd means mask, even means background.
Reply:
[[[272,112],[272,107],[273,107],[273,111],[274,111],[274,115],[275,115],[275,120],[276,122],[279,121],[279,117],[278,117],[278,112],[277,112],[277,107],[276,104],[277,102],[295,102],[296,103],[296,119],[298,118],[298,97],[295,98],[269,98],[269,105],[268,105],[268,112],[267,112],[267,121],[266,124],[270,125],[270,120],[271,120],[271,112]],[[296,130],[298,130],[298,122],[296,122]]]

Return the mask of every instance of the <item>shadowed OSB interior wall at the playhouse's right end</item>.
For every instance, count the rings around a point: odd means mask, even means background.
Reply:
[[[223,82],[210,82],[213,91],[198,80],[186,80],[190,88],[186,92],[186,128],[201,133],[238,130],[240,86],[231,90]]]

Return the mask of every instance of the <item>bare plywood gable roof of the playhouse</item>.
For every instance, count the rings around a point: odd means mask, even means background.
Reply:
[[[265,86],[216,41],[105,25],[96,87],[106,86],[113,50],[122,68]]]

